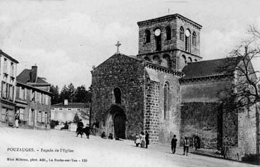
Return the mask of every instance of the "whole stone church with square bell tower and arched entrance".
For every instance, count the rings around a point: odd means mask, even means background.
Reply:
[[[231,159],[259,152],[256,109],[245,116],[219,103],[233,77],[218,70],[225,59],[202,61],[202,25],[179,14],[137,25],[138,55],[118,52],[92,70],[90,119],[99,133],[133,139],[148,131],[155,144],[187,136],[205,149],[228,145]]]

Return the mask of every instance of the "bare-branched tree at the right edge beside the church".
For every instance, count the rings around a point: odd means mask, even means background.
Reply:
[[[259,40],[260,32],[250,27],[250,39],[243,41],[230,52],[229,58],[225,59],[225,65],[220,70],[226,74],[233,74],[233,85],[229,90],[224,89],[221,93],[225,96],[221,101],[229,107],[238,109],[246,107],[248,110],[260,102],[259,96],[259,71],[255,71],[252,61],[260,56]]]

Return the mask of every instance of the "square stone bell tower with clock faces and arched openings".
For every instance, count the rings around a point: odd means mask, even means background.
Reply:
[[[179,14],[137,22],[138,58],[181,71],[187,62],[202,60],[200,30],[202,26]]]

